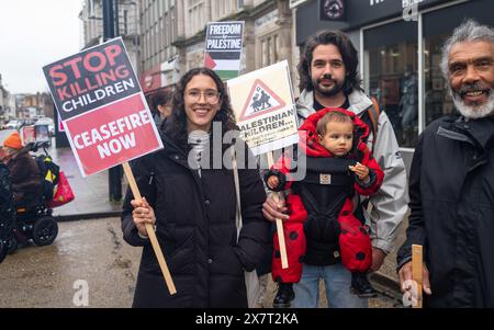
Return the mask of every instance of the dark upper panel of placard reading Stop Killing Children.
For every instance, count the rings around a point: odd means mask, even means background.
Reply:
[[[120,43],[90,48],[44,69],[64,121],[139,91]]]

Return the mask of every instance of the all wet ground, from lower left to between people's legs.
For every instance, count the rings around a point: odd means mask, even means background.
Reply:
[[[108,171],[83,178],[70,148],[56,149],[53,145],[48,152],[66,173],[76,195],[71,203],[55,208],[54,215],[58,220],[89,220],[61,221],[52,246],[29,247],[9,255],[0,264],[0,308],[76,307],[72,300],[80,287],[78,280],[87,281],[89,307],[130,307],[141,248],[130,247],[122,239],[117,218],[121,202],[110,202]],[[126,185],[123,178],[123,194]],[[405,227],[406,220],[398,230],[397,247],[405,238]],[[370,307],[401,307],[395,251],[372,280],[381,294],[369,300]],[[319,287],[323,307],[324,284]],[[266,298],[259,307],[272,307],[274,295],[276,284],[269,277]]]

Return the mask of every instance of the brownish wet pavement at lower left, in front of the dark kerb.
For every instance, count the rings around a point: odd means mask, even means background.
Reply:
[[[122,239],[120,219],[58,226],[52,246],[22,248],[0,264],[0,308],[86,307],[86,285],[88,307],[131,307],[142,248]]]

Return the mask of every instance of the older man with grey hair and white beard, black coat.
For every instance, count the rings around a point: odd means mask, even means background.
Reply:
[[[424,246],[424,306],[494,307],[494,30],[467,21],[442,49],[460,114],[419,136],[409,178],[402,291],[413,292],[411,247]]]

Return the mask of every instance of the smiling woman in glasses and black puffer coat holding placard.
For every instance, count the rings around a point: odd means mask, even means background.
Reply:
[[[237,237],[228,162],[234,144],[223,143],[236,125],[224,84],[212,70],[192,69],[180,80],[172,105],[160,127],[165,148],[134,162],[144,200],[139,204],[127,192],[122,214],[124,239],[144,247],[133,306],[247,307],[244,271],[262,261],[269,241],[263,185],[257,167],[248,167],[255,158],[237,140],[243,218]],[[176,295],[167,291],[146,224],[155,226]]]

